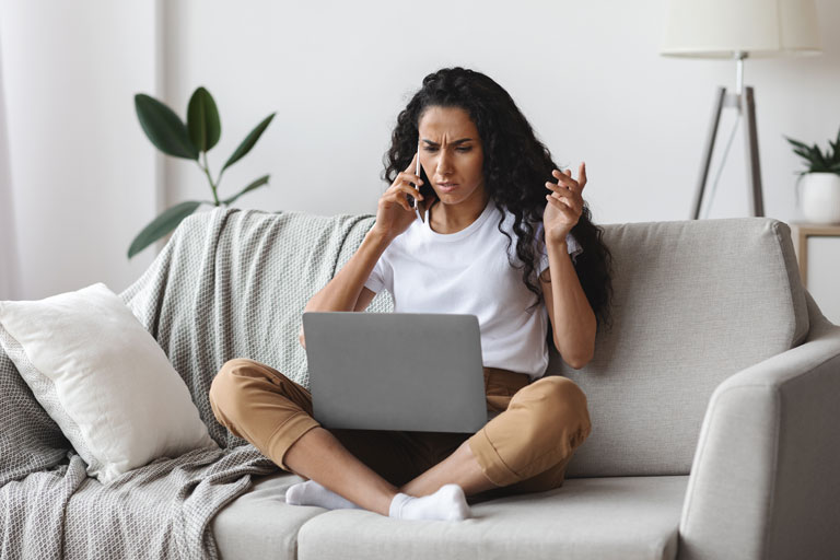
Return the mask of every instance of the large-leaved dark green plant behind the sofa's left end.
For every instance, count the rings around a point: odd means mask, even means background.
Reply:
[[[160,101],[138,93],[135,95],[135,108],[140,126],[143,128],[149,140],[167,155],[195,160],[201,172],[207,175],[210,183],[210,190],[213,192],[213,200],[187,200],[172,208],[164,210],[158,218],[152,220],[149,225],[135,237],[131,246],[128,248],[128,258],[130,259],[145,247],[172,232],[186,217],[191,214],[202,203],[213,206],[228,206],[233,203],[245,192],[259,188],[268,183],[269,175],[264,175],[248,184],[245,188],[235,195],[219,199],[219,183],[222,179],[224,170],[245,156],[259,137],[262,136],[276,113],[272,113],[257,125],[245,140],[234,150],[228,161],[222,166],[215,180],[210,175],[210,168],[207,164],[207,152],[212,149],[221,137],[222,126],[219,120],[219,112],[215,108],[215,102],[205,88],[198,88],[189,98],[187,105],[187,122],[178,117],[174,110]],[[203,160],[203,163],[202,161]]]

